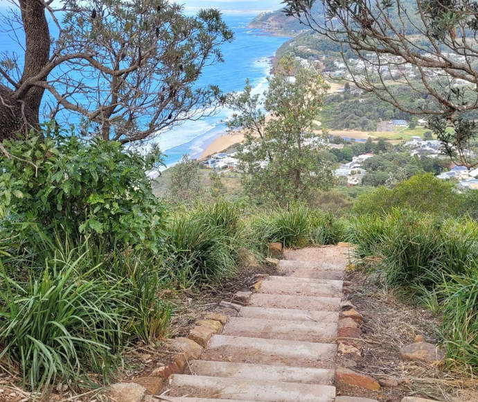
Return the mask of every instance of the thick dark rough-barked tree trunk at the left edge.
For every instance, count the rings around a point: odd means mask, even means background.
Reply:
[[[37,76],[48,63],[50,33],[45,8],[38,0],[20,0],[26,46],[24,71],[17,87],[28,78]],[[46,77],[40,77],[40,80]],[[24,91],[12,90],[0,85],[0,141],[25,137],[30,128],[39,123],[39,107],[44,89],[31,85]]]

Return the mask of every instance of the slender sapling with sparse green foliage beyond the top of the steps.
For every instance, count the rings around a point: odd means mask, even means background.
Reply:
[[[262,201],[288,204],[308,200],[332,182],[324,159],[326,137],[312,132],[328,86],[315,71],[284,59],[276,76],[268,78],[263,98],[251,94],[246,83],[240,94],[230,94],[236,113],[229,128],[245,130],[238,158],[246,190]],[[265,112],[270,113],[266,119]]]

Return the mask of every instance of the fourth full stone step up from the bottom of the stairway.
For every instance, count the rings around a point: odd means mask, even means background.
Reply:
[[[338,314],[335,314],[338,318]],[[231,317],[229,322],[224,326],[222,335],[320,342],[323,339],[337,336],[337,322],[306,322]]]

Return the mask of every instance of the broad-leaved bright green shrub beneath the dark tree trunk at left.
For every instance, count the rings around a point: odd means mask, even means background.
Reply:
[[[114,141],[61,133],[3,145],[11,155],[0,159],[3,225],[34,223],[49,234],[61,229],[112,246],[156,249],[163,209],[145,174],[153,159]]]

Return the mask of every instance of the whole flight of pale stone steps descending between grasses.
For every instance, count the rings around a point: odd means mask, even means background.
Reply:
[[[165,401],[364,401],[336,396],[334,386],[347,248],[287,250],[285,257],[284,276],[260,283],[190,363],[191,374],[170,378]]]

